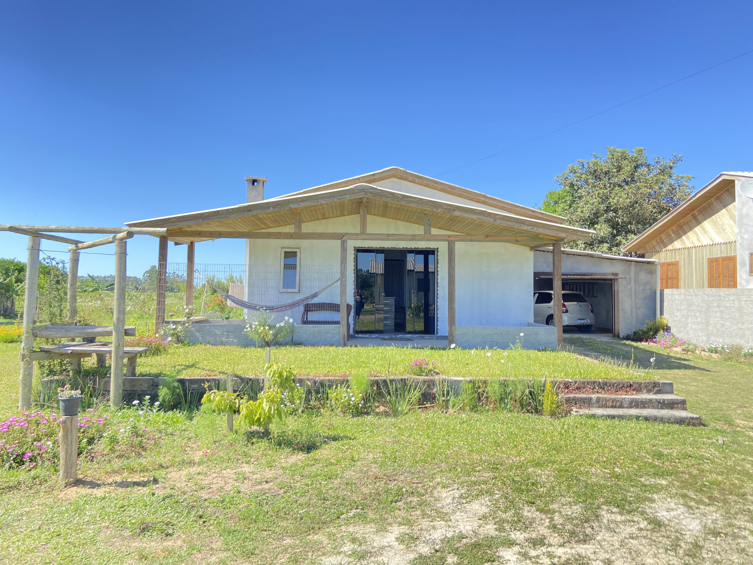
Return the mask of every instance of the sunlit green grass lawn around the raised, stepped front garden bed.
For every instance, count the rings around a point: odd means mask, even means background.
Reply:
[[[753,562],[753,368],[568,341],[576,353],[617,362],[396,348],[286,347],[274,356],[312,375],[384,374],[388,360],[391,374],[404,374],[395,367],[421,355],[453,376],[645,378],[648,369],[673,380],[707,426],[324,412],[289,418],[273,444],[229,434],[213,414],[187,420],[130,408],[114,423],[147,432],[96,460],[82,457],[76,487],[60,489],[44,466],[0,472],[0,563]],[[8,415],[18,350],[0,344]],[[262,363],[261,350],[197,346],[139,367],[258,374]],[[303,453],[295,445],[312,432],[324,441]]]

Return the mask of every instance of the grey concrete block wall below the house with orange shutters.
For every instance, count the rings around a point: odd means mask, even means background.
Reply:
[[[672,333],[697,345],[753,347],[753,289],[664,289]]]

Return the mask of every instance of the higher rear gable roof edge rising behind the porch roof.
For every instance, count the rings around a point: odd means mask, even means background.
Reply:
[[[359,184],[376,185],[378,182],[382,182],[386,179],[400,179],[407,182],[412,182],[415,185],[419,185],[425,188],[431,188],[435,191],[439,191],[453,197],[470,200],[471,202],[480,204],[486,208],[498,209],[502,212],[510,212],[512,214],[523,216],[524,218],[535,218],[544,221],[553,221],[558,224],[564,224],[567,221],[567,218],[563,218],[560,215],[550,214],[549,212],[544,212],[535,208],[529,208],[529,206],[522,206],[520,204],[508,202],[508,200],[501,200],[500,198],[489,196],[489,194],[483,194],[483,192],[472,191],[470,188],[452,185],[449,182],[444,182],[439,179],[432,179],[430,176],[413,173],[412,171],[409,171],[407,169],[401,169],[401,167],[399,166],[389,166],[386,169],[374,171],[373,173],[353,176],[350,179],[343,179],[341,181],[328,182],[326,185],[306,188],[303,191],[291,192],[290,194],[285,194],[284,196],[277,198],[287,198],[291,196],[297,196],[299,194],[312,194],[314,192],[329,191],[334,188],[346,188]],[[270,200],[276,199],[272,198]]]

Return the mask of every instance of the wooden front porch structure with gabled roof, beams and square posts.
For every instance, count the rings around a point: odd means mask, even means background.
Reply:
[[[401,170],[402,171],[402,170]],[[411,173],[415,175],[415,173]],[[427,177],[422,177],[427,179]],[[416,179],[413,179],[415,181]],[[433,179],[430,179],[433,180]],[[413,182],[412,181],[412,182]],[[347,245],[349,240],[411,241],[416,243],[445,242],[448,253],[448,338],[456,341],[456,242],[502,242],[527,248],[553,249],[554,303],[562,302],[562,243],[588,240],[593,231],[575,228],[561,221],[564,218],[506,203],[473,191],[458,193],[474,198],[479,206],[451,203],[429,197],[406,194],[365,183],[336,188],[311,188],[285,197],[239,204],[226,208],[171,215],[142,221],[127,222],[129,229],[164,228],[158,256],[158,289],[166,280],[167,243],[185,244],[187,249],[186,305],[193,304],[195,243],[221,238],[245,240],[332,240],[340,241],[340,343],[347,344]],[[446,183],[436,182],[437,185]],[[456,187],[457,188],[457,187]],[[447,188],[444,188],[447,191]],[[469,193],[472,193],[469,196]],[[489,209],[487,206],[495,206]],[[525,214],[525,215],[523,215]],[[343,216],[358,215],[358,232],[303,231],[303,223]],[[407,224],[422,226],[422,234],[382,234],[368,231],[367,217],[380,216]],[[273,231],[290,227],[292,231]],[[432,232],[434,230],[446,233]],[[451,233],[447,233],[451,232]],[[160,286],[160,282],[162,282]],[[557,344],[562,344],[562,310],[554,308]],[[165,316],[164,291],[157,295],[155,325],[161,328]]]

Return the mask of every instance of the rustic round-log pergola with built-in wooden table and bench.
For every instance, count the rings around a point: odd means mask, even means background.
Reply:
[[[0,231],[11,231],[29,237],[29,253],[26,261],[26,289],[24,291],[23,301],[23,337],[21,342],[21,373],[18,394],[18,408],[26,410],[32,407],[32,377],[34,375],[34,362],[44,359],[71,359],[72,367],[81,366],[81,357],[90,356],[92,353],[101,355],[107,353],[102,347],[95,350],[84,351],[81,347],[78,350],[71,351],[34,351],[34,334],[39,337],[68,337],[69,335],[81,336],[82,334],[105,335],[103,329],[90,331],[89,329],[78,328],[50,328],[46,333],[35,331],[35,313],[37,310],[37,283],[39,276],[39,249],[41,240],[56,241],[59,243],[69,243],[70,262],[68,269],[68,318],[73,322],[78,313],[77,295],[78,295],[78,260],[79,252],[82,249],[91,249],[97,246],[115,244],[115,286],[114,286],[114,308],[113,308],[113,325],[112,328],[104,328],[104,331],[110,331],[112,335],[111,351],[111,371],[110,371],[110,404],[114,408],[119,408],[123,403],[123,361],[126,358],[133,357],[136,353],[126,352],[125,334],[126,334],[126,257],[127,257],[127,240],[134,235],[151,235],[164,237],[167,230],[163,228],[100,228],[84,226],[59,226],[59,225],[8,225],[0,224]],[[51,233],[50,233],[51,232]],[[53,234],[113,234],[103,237],[99,240],[84,242],[73,240],[68,237],[61,237]],[[66,333],[67,332],[67,333]],[[72,349],[72,348],[67,348]]]

